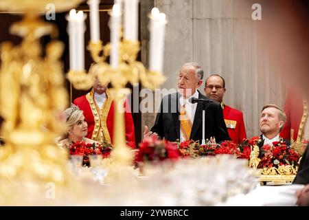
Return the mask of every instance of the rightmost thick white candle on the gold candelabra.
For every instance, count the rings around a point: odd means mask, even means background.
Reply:
[[[165,37],[165,14],[152,8],[150,15],[150,58],[149,69],[155,72],[163,71],[163,52]]]

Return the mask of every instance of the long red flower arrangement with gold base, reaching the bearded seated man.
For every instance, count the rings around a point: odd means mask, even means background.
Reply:
[[[306,143],[303,143],[306,145]],[[207,142],[201,145],[193,140],[177,142],[179,154],[183,158],[201,157],[218,154],[235,155],[240,159],[248,159],[249,166],[261,170],[262,179],[268,181],[271,175],[277,175],[273,179],[292,181],[297,172],[297,164],[301,154],[295,151],[293,146],[288,146],[283,139],[273,142],[273,146],[264,145],[260,137],[245,139],[241,144],[225,141],[221,144]]]

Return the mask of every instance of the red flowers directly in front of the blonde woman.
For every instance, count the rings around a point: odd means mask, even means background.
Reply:
[[[103,158],[107,158],[111,155],[112,147],[113,146],[107,142],[104,142],[103,144],[95,142],[93,142],[93,144],[76,142],[73,143],[69,149],[69,154],[84,156],[82,166],[90,166],[89,155],[102,155]]]

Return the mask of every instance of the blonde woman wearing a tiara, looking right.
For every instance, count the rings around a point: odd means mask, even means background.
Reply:
[[[88,132],[88,124],[84,119],[84,113],[75,104],[71,104],[71,107],[65,109],[65,117],[67,123],[67,134],[64,139],[59,142],[65,148],[71,148],[75,142],[85,142],[86,144],[92,144],[93,140],[85,137]]]

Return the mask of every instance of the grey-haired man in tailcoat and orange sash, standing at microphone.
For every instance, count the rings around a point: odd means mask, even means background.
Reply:
[[[156,135],[169,141],[202,141],[203,103],[192,104],[190,98],[207,100],[205,104],[205,139],[216,142],[230,140],[220,104],[209,100],[197,89],[203,83],[203,69],[197,63],[185,63],[179,72],[178,89],[164,96],[159,113],[149,132],[145,126],[144,137]]]

